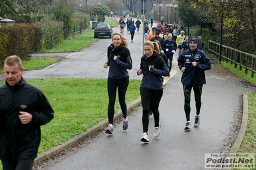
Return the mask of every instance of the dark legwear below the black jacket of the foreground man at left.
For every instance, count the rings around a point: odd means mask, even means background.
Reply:
[[[33,163],[33,159],[24,159],[18,162],[2,160],[3,170],[32,170]]]

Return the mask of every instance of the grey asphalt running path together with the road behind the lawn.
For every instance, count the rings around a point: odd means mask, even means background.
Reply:
[[[115,28],[115,31],[118,28]],[[136,33],[129,40],[133,68],[131,79],[136,75],[142,55],[142,34]],[[100,77],[107,78],[103,68],[106,49],[111,43],[104,38],[90,47],[72,54],[63,54],[67,59],[46,68],[25,72],[24,78],[37,77]],[[246,87],[232,76],[206,72],[207,84],[202,95],[200,127],[184,132],[184,97],[180,83],[181,72],[177,68],[175,53],[172,78],[164,84],[164,94],[159,107],[161,135],[153,137],[154,118],[150,117],[149,143],[141,143],[143,133],[141,107],[129,116],[129,128],[122,130],[122,123],[114,127],[114,135],[99,134],[92,143],[60,158],[40,169],[204,169],[205,153],[220,153],[230,140],[230,133],[241,105],[240,97],[255,88]],[[191,120],[195,115],[195,102],[191,100]]]

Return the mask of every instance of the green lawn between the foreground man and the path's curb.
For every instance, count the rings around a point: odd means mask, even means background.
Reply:
[[[89,127],[108,118],[107,79],[52,78],[28,79],[38,86],[54,109],[54,119],[42,126],[42,141],[38,152],[48,150]],[[4,81],[1,81],[2,85]],[[130,80],[126,102],[140,97],[140,80]],[[118,97],[116,98],[118,101]],[[120,109],[116,102],[115,111]]]

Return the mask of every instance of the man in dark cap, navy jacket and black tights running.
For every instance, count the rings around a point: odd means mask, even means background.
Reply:
[[[211,69],[211,61],[206,56],[204,51],[198,49],[198,39],[193,36],[189,39],[189,50],[184,50],[178,58],[178,65],[182,72],[181,82],[184,91],[184,110],[186,114],[186,127],[184,130],[191,129],[190,121],[190,94],[193,88],[195,93],[196,116],[194,127],[200,125],[200,109],[201,109],[201,95],[203,84],[205,81],[205,70]]]

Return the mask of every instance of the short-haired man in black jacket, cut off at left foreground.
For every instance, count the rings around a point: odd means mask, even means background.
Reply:
[[[41,140],[40,126],[54,117],[44,93],[27,83],[18,56],[4,61],[0,87],[0,159],[3,170],[31,170]]]

